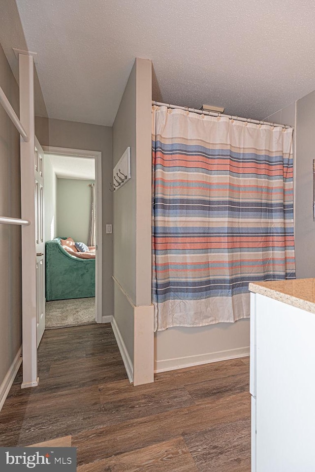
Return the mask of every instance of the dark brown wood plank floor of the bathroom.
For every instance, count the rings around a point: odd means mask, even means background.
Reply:
[[[103,324],[46,331],[38,367],[38,387],[21,369],[12,385],[0,446],[71,441],[79,472],[250,472],[247,358],[134,387]]]

